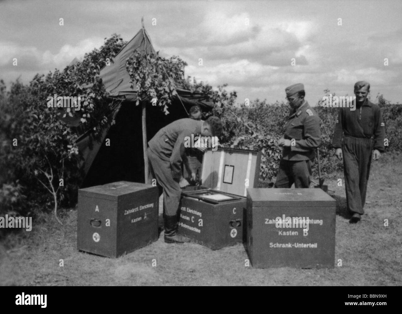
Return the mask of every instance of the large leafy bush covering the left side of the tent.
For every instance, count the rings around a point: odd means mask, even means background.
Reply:
[[[54,202],[56,213],[57,203],[75,203],[82,180],[82,156],[78,154],[76,140],[87,130],[98,139],[105,126],[113,122],[117,104],[110,104],[97,75],[105,60],[114,57],[124,44],[113,35],[100,50],[87,53],[82,62],[46,76],[37,74],[28,85],[17,80],[9,92],[0,82],[3,212],[22,214],[24,207],[43,209],[43,205]],[[80,96],[81,110],[48,108],[48,97],[53,94]],[[18,184],[9,184],[16,180]],[[21,193],[26,196],[25,206],[13,197],[9,199],[10,195]]]

